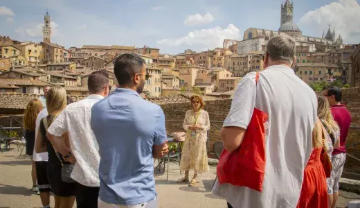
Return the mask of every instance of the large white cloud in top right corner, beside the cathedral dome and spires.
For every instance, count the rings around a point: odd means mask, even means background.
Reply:
[[[307,12],[300,24],[321,34],[327,32],[328,24],[335,28],[336,38],[341,35],[345,43],[359,43],[360,5],[356,0],[338,0]]]

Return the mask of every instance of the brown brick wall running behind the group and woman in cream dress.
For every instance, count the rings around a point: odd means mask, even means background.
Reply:
[[[316,92],[318,94],[318,92]],[[228,114],[231,106],[231,99],[224,99],[219,101],[206,101],[204,110],[210,116],[210,131],[209,131],[209,150],[213,150],[213,144],[219,140],[219,130],[222,123]],[[343,101],[346,107],[352,114],[352,127],[349,130],[347,145],[360,143],[360,89],[351,88],[343,89]],[[189,103],[176,103],[161,105],[165,113],[166,130],[168,133],[175,131],[183,131],[183,119],[187,110],[190,110]],[[12,126],[19,125],[14,119],[22,121],[21,116],[12,116]],[[0,125],[10,126],[11,119],[9,116],[0,117]],[[360,159],[360,144],[347,148],[350,155]],[[345,171],[352,173],[360,173],[360,163],[351,157],[347,157],[345,164]]]

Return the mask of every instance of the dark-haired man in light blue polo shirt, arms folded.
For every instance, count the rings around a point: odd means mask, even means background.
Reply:
[[[148,78],[140,56],[120,55],[114,73],[119,88],[91,110],[100,152],[98,207],[157,208],[153,158],[168,153],[165,116],[139,95]]]

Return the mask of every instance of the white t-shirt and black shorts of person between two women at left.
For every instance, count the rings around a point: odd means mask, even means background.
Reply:
[[[35,144],[37,132],[39,132],[40,121],[48,116],[48,110],[44,108],[37,115],[35,121]],[[35,161],[37,185],[39,186],[40,199],[44,208],[50,207],[50,184],[48,182],[48,153],[36,153],[34,148],[33,160]]]

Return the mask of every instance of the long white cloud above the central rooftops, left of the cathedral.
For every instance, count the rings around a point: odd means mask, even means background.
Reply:
[[[192,31],[186,36],[177,39],[159,40],[157,44],[168,46],[192,46],[201,50],[207,50],[221,47],[224,39],[236,40],[239,37],[239,28],[233,24],[229,24],[227,28],[217,26],[215,28]]]

